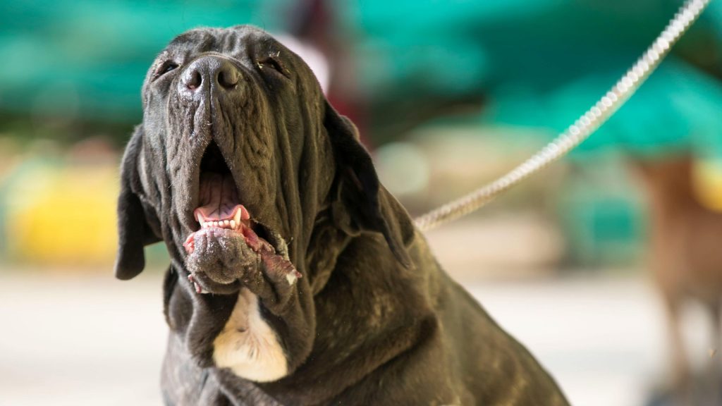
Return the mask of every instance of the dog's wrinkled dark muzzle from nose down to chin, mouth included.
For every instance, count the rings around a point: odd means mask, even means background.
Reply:
[[[240,66],[216,55],[189,64],[177,89],[169,115],[175,118],[171,131],[181,137],[177,149],[169,150],[168,162],[179,223],[187,233],[183,248],[189,279],[199,293],[232,293],[244,275],[257,274],[253,271],[264,263],[289,261],[286,242],[261,225],[252,210],[269,189],[261,176],[268,171],[256,168],[258,161],[270,162],[264,153],[269,142],[252,148],[268,131],[251,122],[258,117],[249,110],[258,108],[248,108],[261,99],[253,97]],[[248,148],[258,152],[250,160]],[[188,157],[178,159],[183,151]]]

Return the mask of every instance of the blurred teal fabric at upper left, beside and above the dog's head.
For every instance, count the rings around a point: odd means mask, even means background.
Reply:
[[[170,39],[200,25],[269,29],[288,1],[5,1],[0,109],[138,121],[140,86]]]

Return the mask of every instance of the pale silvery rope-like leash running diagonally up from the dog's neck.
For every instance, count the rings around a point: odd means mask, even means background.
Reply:
[[[687,31],[692,22],[697,20],[709,2],[710,0],[688,0],[684,3],[677,14],[674,14],[669,25],[664,28],[664,31],[632,68],[622,76],[622,79],[619,79],[619,82],[609,92],[606,92],[595,105],[556,139],[549,142],[546,147],[496,181],[417,217],[414,220],[417,227],[422,231],[427,231],[443,223],[456,220],[458,217],[468,215],[492,201],[503,191],[510,189],[577,147],[634,94],[669,53],[671,46]]]

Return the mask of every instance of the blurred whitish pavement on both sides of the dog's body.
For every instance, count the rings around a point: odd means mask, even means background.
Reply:
[[[130,282],[0,274],[0,405],[160,405],[160,272]],[[467,285],[573,405],[642,405],[664,378],[664,319],[640,277]],[[687,332],[701,355],[703,319]]]

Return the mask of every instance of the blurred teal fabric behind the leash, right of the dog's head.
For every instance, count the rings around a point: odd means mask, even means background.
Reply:
[[[375,103],[484,94],[484,107],[467,121],[529,127],[550,139],[614,85],[682,1],[354,4],[343,15],[359,38],[359,70]],[[575,153],[722,152],[721,41],[722,4],[713,1],[658,72]]]

